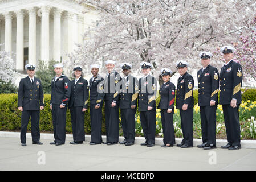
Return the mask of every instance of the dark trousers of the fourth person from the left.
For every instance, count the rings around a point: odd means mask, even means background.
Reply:
[[[91,142],[102,143],[102,105],[99,109],[95,109],[95,104],[90,104],[91,118]]]

